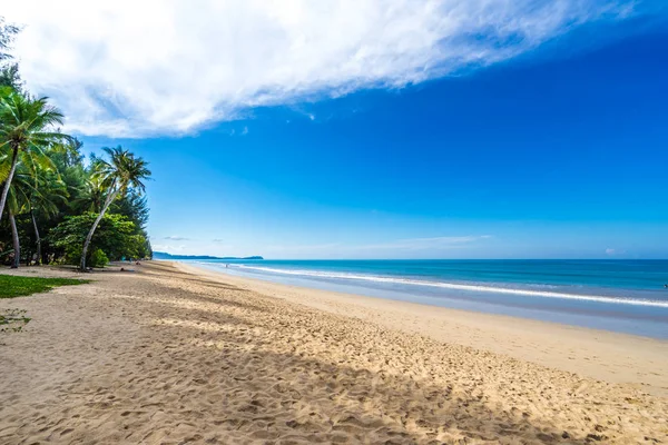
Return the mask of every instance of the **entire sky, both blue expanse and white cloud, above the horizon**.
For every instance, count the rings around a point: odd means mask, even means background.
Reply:
[[[0,0],[155,250],[668,258],[662,1]]]

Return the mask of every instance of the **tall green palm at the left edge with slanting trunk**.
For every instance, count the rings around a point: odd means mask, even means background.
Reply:
[[[56,125],[62,125],[62,113],[47,103],[47,98],[32,99],[11,88],[0,89],[0,150],[9,150],[11,159],[0,168],[0,181],[4,181],[0,195],[0,218],[4,211],[7,196],[13,179],[17,162],[22,160],[29,166],[52,167],[45,154],[51,144],[68,136],[49,131]]]

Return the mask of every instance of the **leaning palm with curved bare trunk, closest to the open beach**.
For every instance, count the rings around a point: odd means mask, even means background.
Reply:
[[[86,270],[86,255],[88,254],[88,247],[90,246],[92,235],[105,217],[105,212],[111,202],[114,202],[119,195],[125,195],[129,187],[139,192],[144,192],[146,187],[141,180],[147,179],[150,176],[150,170],[147,168],[148,162],[141,158],[135,157],[135,155],[128,150],[124,150],[120,147],[102,148],[102,150],[109,155],[109,162],[100,159],[92,175],[99,177],[101,185],[107,190],[107,198],[84,241],[84,249],[81,250],[81,270]]]

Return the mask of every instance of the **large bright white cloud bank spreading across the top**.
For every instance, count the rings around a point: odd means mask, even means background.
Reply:
[[[178,135],[253,107],[488,66],[631,0],[0,0],[16,55],[69,131]],[[310,117],[314,119],[315,117]]]

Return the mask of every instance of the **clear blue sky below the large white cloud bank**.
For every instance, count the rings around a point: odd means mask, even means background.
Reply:
[[[446,70],[425,77],[294,75],[298,81],[266,102],[269,87],[236,108],[218,103],[214,117],[174,117],[174,128],[197,122],[178,134],[143,115],[141,103],[132,115],[107,99],[105,112],[127,119],[80,118],[72,127],[89,150],[122,145],[149,160],[156,250],[667,258],[666,10],[616,3],[621,12],[602,18],[567,14],[529,46],[518,41],[533,28],[497,36],[482,58],[439,59]],[[18,48],[30,59],[29,43]],[[316,87],[299,89],[305,82]],[[56,99],[67,112],[67,98]],[[132,122],[141,131],[127,134]]]

